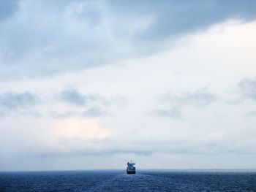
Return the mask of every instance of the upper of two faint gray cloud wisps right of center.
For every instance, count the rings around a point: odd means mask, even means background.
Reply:
[[[176,106],[191,105],[195,107],[204,107],[211,104],[216,99],[216,96],[208,91],[208,88],[201,88],[195,92],[181,93],[180,95],[167,94],[164,96],[165,101],[169,101]]]

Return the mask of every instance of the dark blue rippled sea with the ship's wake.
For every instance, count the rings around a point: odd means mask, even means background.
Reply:
[[[256,191],[256,172],[0,172],[0,191]]]

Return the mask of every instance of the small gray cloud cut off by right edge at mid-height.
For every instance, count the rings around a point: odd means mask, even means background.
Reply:
[[[241,80],[238,83],[238,87],[244,96],[256,101],[256,77]]]

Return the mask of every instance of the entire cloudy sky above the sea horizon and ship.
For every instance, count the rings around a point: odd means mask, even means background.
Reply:
[[[256,169],[256,1],[0,1],[0,171]]]

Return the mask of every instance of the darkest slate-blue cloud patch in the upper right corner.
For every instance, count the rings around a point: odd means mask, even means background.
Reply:
[[[114,1],[116,12],[154,15],[154,22],[137,34],[138,40],[165,39],[207,28],[229,18],[255,19],[255,1]],[[152,9],[154,7],[154,9]],[[232,9],[230,9],[232,7]]]

